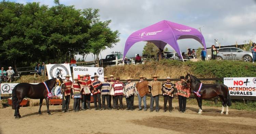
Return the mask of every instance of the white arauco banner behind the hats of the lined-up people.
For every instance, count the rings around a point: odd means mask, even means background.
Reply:
[[[104,81],[103,67],[73,67],[73,77],[80,79],[79,75],[90,74],[90,79],[94,80],[94,75],[98,75],[100,81]]]

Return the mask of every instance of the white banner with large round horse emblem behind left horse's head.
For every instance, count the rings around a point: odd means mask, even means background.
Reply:
[[[65,76],[69,75],[70,80],[73,80],[69,64],[47,64],[46,70],[48,74],[48,79],[53,79],[60,75],[60,77],[64,80]]]

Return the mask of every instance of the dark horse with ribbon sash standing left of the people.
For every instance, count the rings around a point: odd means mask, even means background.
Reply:
[[[57,79],[60,81],[61,84],[63,84],[63,81],[59,76],[57,78],[53,78],[45,81],[45,84],[49,89],[49,93],[51,93],[53,87],[56,84]],[[49,98],[47,97],[47,94],[48,94],[48,91],[43,82],[39,84],[29,84],[29,83],[17,84],[12,90],[12,109],[15,110],[15,113],[14,113],[15,119],[21,118],[19,114],[19,104],[22,102],[22,100],[25,97],[28,97],[31,99],[40,99],[39,111],[38,111],[39,114],[42,114],[41,107],[42,107],[43,99],[45,99],[46,106],[47,106],[47,113],[51,115],[49,111]]]

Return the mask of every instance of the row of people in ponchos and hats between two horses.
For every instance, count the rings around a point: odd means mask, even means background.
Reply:
[[[175,83],[176,90],[174,85],[170,82],[170,77],[167,77],[166,82],[163,84],[157,80],[158,76],[153,76],[153,81],[150,82],[144,80],[143,76],[140,76],[140,81],[138,83],[132,82],[131,78],[127,78],[125,84],[120,82],[119,77],[116,77],[116,80],[114,80],[113,75],[104,77],[104,82],[99,81],[99,76],[97,75],[94,76],[93,81],[91,81],[89,77],[89,74],[86,74],[85,76],[80,75],[80,80],[74,78],[74,83],[72,83],[72,81],[69,80],[70,76],[66,76],[65,84],[62,87],[62,112],[69,112],[68,109],[71,97],[74,99],[74,112],[80,111],[80,100],[82,101],[82,110],[90,110],[91,94],[93,94],[95,110],[110,110],[112,108],[115,110],[124,110],[123,96],[125,96],[127,105],[126,110],[133,111],[134,97],[138,96],[138,111],[142,110],[142,100],[144,103],[144,111],[147,111],[146,95],[148,93],[151,93],[150,112],[153,112],[154,103],[156,112],[159,112],[159,95],[162,95],[164,98],[164,112],[167,111],[167,102],[169,102],[169,112],[172,112],[172,98],[175,93],[179,98],[180,112],[184,113],[186,110],[186,98],[190,96],[188,83],[182,85],[184,76],[181,76],[180,81]],[[113,107],[111,107],[112,99]],[[105,102],[107,102],[107,105],[105,105]]]

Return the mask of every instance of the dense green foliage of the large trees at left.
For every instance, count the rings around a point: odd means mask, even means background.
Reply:
[[[0,2],[1,64],[30,66],[36,62],[69,61],[76,54],[96,56],[119,41],[119,32],[101,21],[99,9],[75,9],[39,2]]]

